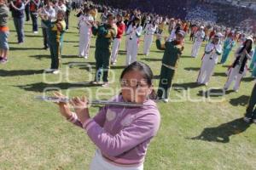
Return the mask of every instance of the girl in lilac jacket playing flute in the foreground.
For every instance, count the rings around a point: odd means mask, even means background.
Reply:
[[[90,118],[88,101],[83,97],[67,103],[57,103],[61,116],[68,122],[82,127],[96,144],[96,154],[90,170],[143,170],[148,145],[160,127],[160,112],[149,98],[153,94],[153,73],[148,65],[134,62],[120,77],[121,93],[115,102],[136,102],[143,107],[129,108],[106,105]],[[65,98],[55,93],[58,98]]]

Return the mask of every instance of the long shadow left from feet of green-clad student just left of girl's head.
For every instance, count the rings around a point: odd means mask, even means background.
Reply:
[[[32,92],[44,92],[46,89],[47,91],[55,91],[58,89],[66,90],[68,88],[87,88],[87,87],[99,87],[101,85],[95,85],[91,82],[77,82],[77,83],[68,83],[68,82],[61,82],[61,83],[55,83],[55,84],[47,84],[44,82],[37,82],[32,84],[26,84],[26,85],[19,85],[15,86],[17,88],[24,89],[26,91],[32,91]]]

